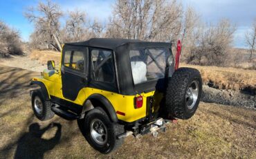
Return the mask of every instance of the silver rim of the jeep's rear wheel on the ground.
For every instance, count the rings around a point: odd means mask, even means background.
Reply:
[[[98,144],[107,142],[107,127],[101,120],[94,119],[91,122],[91,137]]]

